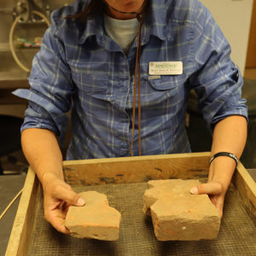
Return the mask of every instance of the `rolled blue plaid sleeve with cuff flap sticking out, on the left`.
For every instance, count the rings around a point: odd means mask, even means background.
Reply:
[[[30,90],[14,92],[29,101],[21,131],[42,128],[64,136],[74,85],[65,60],[65,47],[54,20],[44,34],[41,49],[33,58],[29,84]]]

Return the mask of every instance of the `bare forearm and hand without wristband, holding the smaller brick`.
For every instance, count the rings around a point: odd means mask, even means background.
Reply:
[[[83,206],[84,200],[64,181],[62,154],[54,131],[31,128],[21,133],[26,160],[37,173],[44,189],[44,218],[56,230],[68,234],[64,222],[69,206]]]

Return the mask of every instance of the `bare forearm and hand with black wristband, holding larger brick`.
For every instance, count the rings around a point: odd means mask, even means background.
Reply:
[[[230,152],[239,159],[247,141],[247,119],[241,115],[231,115],[218,121],[212,137],[212,155],[218,152]],[[192,188],[192,194],[207,194],[217,207],[222,218],[224,196],[229,188],[236,169],[236,162],[227,156],[219,156],[209,167],[208,182]]]

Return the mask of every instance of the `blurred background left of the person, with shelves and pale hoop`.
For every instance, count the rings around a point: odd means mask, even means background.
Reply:
[[[20,125],[27,102],[11,92],[29,88],[32,58],[40,49],[49,16],[54,9],[72,2],[0,1],[0,175],[27,170],[20,147]]]

